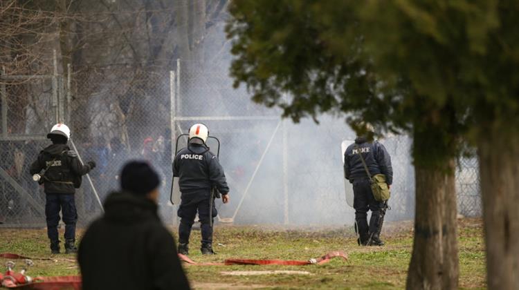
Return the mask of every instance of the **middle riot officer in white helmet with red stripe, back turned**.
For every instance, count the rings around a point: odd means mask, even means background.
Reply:
[[[184,255],[189,252],[189,237],[197,211],[201,224],[201,252],[204,255],[215,253],[212,251],[212,219],[217,215],[217,210],[215,197],[212,196],[213,187],[221,193],[224,204],[229,201],[224,168],[206,146],[208,135],[204,124],[191,126],[188,146],[176,154],[173,162],[173,176],[179,177],[181,191],[179,253]]]

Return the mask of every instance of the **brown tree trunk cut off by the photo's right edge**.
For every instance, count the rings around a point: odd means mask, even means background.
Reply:
[[[519,136],[508,130],[477,142],[489,289],[519,289]]]

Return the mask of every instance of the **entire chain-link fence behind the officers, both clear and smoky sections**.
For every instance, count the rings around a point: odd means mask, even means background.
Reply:
[[[220,160],[231,202],[217,201],[219,219],[235,224],[352,224],[345,201],[340,144],[354,133],[343,119],[323,116],[320,124],[292,124],[280,111],[250,101],[233,89],[226,68],[204,70],[181,61],[170,71],[130,66],[84,67],[60,76],[3,76],[0,141],[0,221],[9,226],[43,226],[44,193],[28,166],[49,142],[58,120],[71,126],[72,140],[86,162],[98,166],[76,194],[80,223],[101,213],[103,201],[118,189],[122,164],[149,160],[162,175],[160,209],[176,222],[169,202],[175,137],[195,122],[221,141]],[[415,179],[410,139],[381,140],[392,156],[394,184],[388,219],[410,219]],[[214,145],[210,145],[215,149]],[[457,171],[459,212],[481,214],[477,161],[462,159]]]

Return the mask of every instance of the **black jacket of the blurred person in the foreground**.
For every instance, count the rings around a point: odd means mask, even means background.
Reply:
[[[82,289],[190,288],[154,202],[131,193],[111,193],[104,210],[80,243]]]

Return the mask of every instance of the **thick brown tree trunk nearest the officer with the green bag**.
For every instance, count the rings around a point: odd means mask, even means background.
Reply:
[[[457,289],[454,162],[449,173],[415,165],[415,241],[407,289]]]

